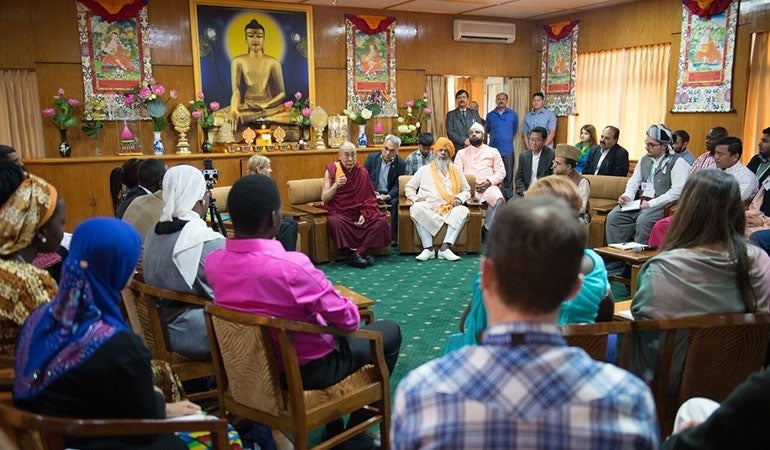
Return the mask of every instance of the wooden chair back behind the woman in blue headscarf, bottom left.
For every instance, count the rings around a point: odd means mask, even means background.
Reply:
[[[73,419],[43,416],[0,398],[0,448],[5,450],[63,450],[71,438],[167,434],[208,431],[213,448],[228,450],[227,420],[215,419]]]

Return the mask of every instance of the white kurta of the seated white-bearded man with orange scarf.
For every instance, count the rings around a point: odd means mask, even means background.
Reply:
[[[455,198],[465,203],[471,197],[471,187],[462,170],[457,166],[455,168],[460,172],[460,192]],[[443,175],[441,172],[438,173],[438,176],[444,185],[444,189],[451,193],[451,177]],[[412,179],[406,184],[404,195],[414,203],[409,208],[412,220],[428,230],[432,236],[435,236],[445,223],[452,228],[459,229],[468,220],[470,211],[462,205],[455,206],[448,214],[443,216],[437,212],[439,207],[446,204],[446,202],[441,197],[433,181],[433,172],[431,171],[430,164],[422,166],[417,170]]]

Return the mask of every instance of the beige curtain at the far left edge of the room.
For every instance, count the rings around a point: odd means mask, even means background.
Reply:
[[[45,158],[37,78],[26,70],[0,70],[0,143],[22,159]]]

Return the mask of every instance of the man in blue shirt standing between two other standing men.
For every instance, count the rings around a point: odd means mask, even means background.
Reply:
[[[497,108],[487,113],[485,126],[489,136],[489,146],[500,152],[505,165],[503,194],[505,198],[513,197],[513,139],[519,129],[519,116],[508,108],[508,94],[500,92],[495,96]]]

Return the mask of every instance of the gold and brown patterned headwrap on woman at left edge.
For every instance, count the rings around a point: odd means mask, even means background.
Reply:
[[[56,209],[58,193],[52,184],[30,175],[0,206],[0,255],[6,256],[32,244],[35,232]]]

